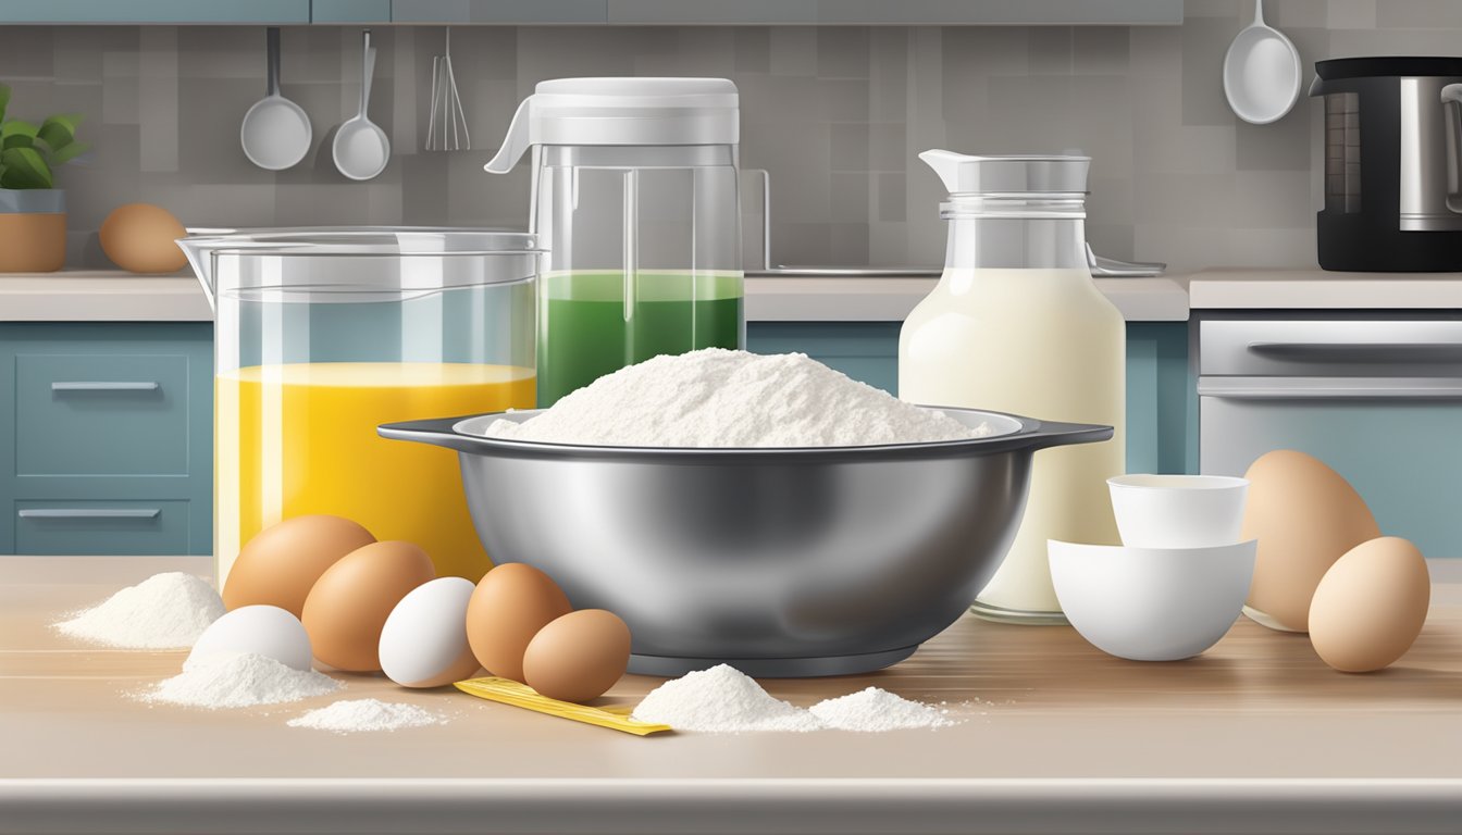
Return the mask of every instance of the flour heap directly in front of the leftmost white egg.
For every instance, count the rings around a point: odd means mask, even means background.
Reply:
[[[341,687],[314,670],[295,670],[263,655],[225,654],[190,658],[181,674],[158,683],[142,700],[215,711],[298,702]]]

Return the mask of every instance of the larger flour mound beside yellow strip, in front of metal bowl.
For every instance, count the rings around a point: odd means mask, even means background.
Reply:
[[[741,731],[816,731],[810,712],[784,702],[756,679],[727,664],[687,673],[645,696],[633,718],[667,724],[680,731],[735,734]]]

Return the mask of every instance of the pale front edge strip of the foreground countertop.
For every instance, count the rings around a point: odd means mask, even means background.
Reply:
[[[0,779],[0,835],[1453,832],[1462,779]]]

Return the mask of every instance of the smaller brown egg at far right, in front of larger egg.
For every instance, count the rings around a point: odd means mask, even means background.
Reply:
[[[1411,649],[1431,604],[1431,576],[1401,537],[1361,543],[1325,572],[1310,602],[1310,642],[1342,673],[1370,673]]]

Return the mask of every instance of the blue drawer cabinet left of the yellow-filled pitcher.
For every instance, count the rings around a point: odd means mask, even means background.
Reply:
[[[212,338],[0,323],[0,553],[211,553]]]

